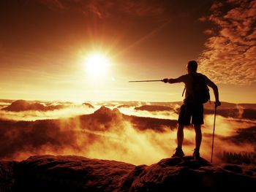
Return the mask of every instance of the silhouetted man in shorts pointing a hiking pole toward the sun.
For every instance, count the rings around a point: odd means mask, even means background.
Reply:
[[[206,77],[206,75],[197,73],[197,62],[189,61],[187,64],[187,74],[181,75],[176,79],[164,79],[163,82],[176,83],[184,82],[186,93],[184,103],[181,105],[181,109],[178,115],[178,128],[177,128],[177,147],[173,157],[183,157],[184,152],[182,150],[182,143],[184,140],[184,126],[190,125],[190,119],[192,118],[192,125],[195,128],[195,150],[193,156],[195,159],[200,158],[200,145],[202,141],[201,125],[203,124],[203,104],[195,101],[195,76],[201,77],[206,81],[206,85],[214,90],[215,105],[219,106],[219,91],[217,85]]]

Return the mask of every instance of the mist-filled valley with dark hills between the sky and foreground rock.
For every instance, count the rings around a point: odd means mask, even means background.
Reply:
[[[73,104],[1,100],[0,158],[81,155],[153,164],[176,147],[181,102],[102,101]],[[202,156],[211,156],[213,104],[205,105]],[[255,164],[256,105],[223,103],[217,111],[214,162]],[[184,152],[192,154],[194,130],[185,129]]]

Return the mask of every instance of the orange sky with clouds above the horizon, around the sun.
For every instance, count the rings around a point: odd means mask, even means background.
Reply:
[[[181,101],[189,60],[220,100],[255,103],[256,1],[0,2],[0,97],[64,101]],[[105,54],[91,77],[85,58]],[[211,94],[212,100],[214,95]]]

